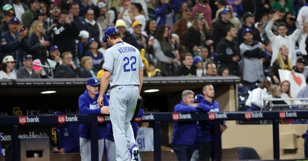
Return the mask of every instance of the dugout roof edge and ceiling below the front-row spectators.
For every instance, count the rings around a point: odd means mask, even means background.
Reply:
[[[0,96],[42,95],[42,91],[57,91],[47,95],[80,95],[86,89],[87,78],[1,79]],[[237,76],[214,77],[154,77],[144,78],[141,95],[172,95],[183,90],[200,90],[205,84],[230,85],[240,82]],[[149,89],[158,92],[144,93]]]

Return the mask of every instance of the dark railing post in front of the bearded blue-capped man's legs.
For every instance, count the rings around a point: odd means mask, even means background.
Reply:
[[[91,124],[91,160],[98,161],[98,124]]]

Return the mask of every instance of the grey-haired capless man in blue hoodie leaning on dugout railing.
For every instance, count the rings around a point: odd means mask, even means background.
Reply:
[[[194,104],[194,93],[190,90],[182,92],[182,100],[174,107],[174,112],[197,112],[197,104]],[[180,118],[178,116],[178,118]],[[187,161],[193,155],[197,122],[174,122],[172,149],[179,161]]]

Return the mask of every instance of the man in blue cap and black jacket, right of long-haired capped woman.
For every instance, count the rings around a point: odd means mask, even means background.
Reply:
[[[221,38],[224,37],[222,33],[225,33],[225,26],[232,25],[229,21],[231,18],[231,11],[228,8],[225,8],[221,11],[221,17],[218,18],[217,22],[214,24],[213,28],[213,47],[216,49],[218,42]]]

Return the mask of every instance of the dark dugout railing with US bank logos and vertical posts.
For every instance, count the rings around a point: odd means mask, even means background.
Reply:
[[[258,115],[252,115],[258,113]],[[181,118],[179,115],[186,115]],[[257,117],[252,117],[257,116]],[[71,117],[70,121],[59,121],[59,118]],[[272,120],[273,125],[273,159],[280,158],[279,151],[279,119],[308,119],[308,111],[245,111],[245,112],[209,112],[209,113],[146,113],[135,118],[136,122],[154,122],[154,161],[161,160],[160,122],[172,121],[213,121],[216,160],[221,160],[220,123],[222,120]],[[29,121],[28,121],[29,120]],[[31,121],[30,121],[31,120]],[[107,115],[27,115],[2,116],[0,126],[12,126],[12,161],[17,161],[18,154],[18,127],[57,124],[91,123],[91,160],[98,160],[98,127],[101,123],[110,123]]]

